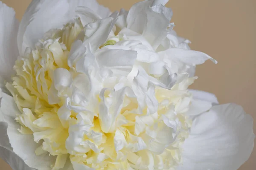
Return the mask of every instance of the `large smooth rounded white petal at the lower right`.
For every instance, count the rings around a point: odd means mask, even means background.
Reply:
[[[253,119],[236,104],[216,105],[195,118],[178,170],[237,170],[253,150]]]

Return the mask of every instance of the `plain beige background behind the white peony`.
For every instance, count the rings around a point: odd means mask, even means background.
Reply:
[[[31,0],[2,0],[20,20]],[[61,0],[60,0],[61,1]],[[112,11],[140,0],[99,0]],[[209,91],[220,103],[235,102],[254,119],[256,132],[256,0],[170,0],[175,30],[192,41],[192,49],[217,59],[200,65],[192,88]],[[256,169],[256,147],[239,170]],[[0,160],[0,170],[11,170]]]

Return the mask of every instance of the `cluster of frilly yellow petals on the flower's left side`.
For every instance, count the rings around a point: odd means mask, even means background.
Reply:
[[[41,144],[36,154],[49,152],[58,156],[53,169],[64,167],[67,159],[65,142],[68,128],[63,127],[58,118],[58,110],[64,101],[50,105],[49,89],[56,68],[69,69],[67,58],[72,43],[83,29],[79,20],[69,23],[52,34],[50,39],[41,40],[36,49],[20,57],[15,64],[16,76],[6,87],[11,91],[17,107],[22,112],[16,118],[20,123],[20,133],[33,134],[35,142]],[[75,117],[72,114],[71,117]]]

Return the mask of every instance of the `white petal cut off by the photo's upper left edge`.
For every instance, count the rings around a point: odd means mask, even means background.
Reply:
[[[18,57],[17,32],[19,22],[15,18],[15,11],[0,2],[0,88],[4,87],[4,80],[9,81],[14,73],[13,66]]]

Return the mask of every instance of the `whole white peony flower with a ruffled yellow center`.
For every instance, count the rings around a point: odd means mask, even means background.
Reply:
[[[168,0],[0,3],[0,156],[13,170],[237,170],[253,120],[188,90],[195,66]],[[3,24],[4,23],[4,24]]]

